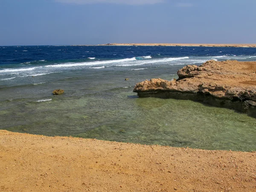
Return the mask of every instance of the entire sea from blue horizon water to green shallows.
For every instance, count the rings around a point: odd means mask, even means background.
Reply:
[[[138,98],[137,82],[177,79],[205,61],[256,61],[256,48],[0,47],[0,129],[46,136],[256,151],[256,119],[176,99]],[[125,81],[128,79],[128,81]],[[52,95],[63,89],[62,95]]]

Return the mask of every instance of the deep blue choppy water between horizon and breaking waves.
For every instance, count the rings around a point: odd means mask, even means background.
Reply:
[[[256,48],[236,47],[167,47],[167,46],[17,46],[0,47],[0,65],[22,67],[20,64],[46,60],[51,63],[124,59],[151,55],[152,58],[185,56],[256,55]],[[35,62],[34,64],[36,64]],[[16,66],[10,64],[17,64]],[[38,63],[42,64],[42,63]]]

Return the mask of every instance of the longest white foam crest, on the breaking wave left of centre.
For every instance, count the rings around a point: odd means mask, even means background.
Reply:
[[[45,67],[75,67],[75,66],[84,66],[84,65],[120,63],[120,62],[135,61],[135,60],[136,60],[136,58],[133,57],[133,58],[110,60],[110,61],[93,61],[93,62],[82,62],[82,63],[66,63],[66,64],[57,64],[57,65],[47,65]]]

